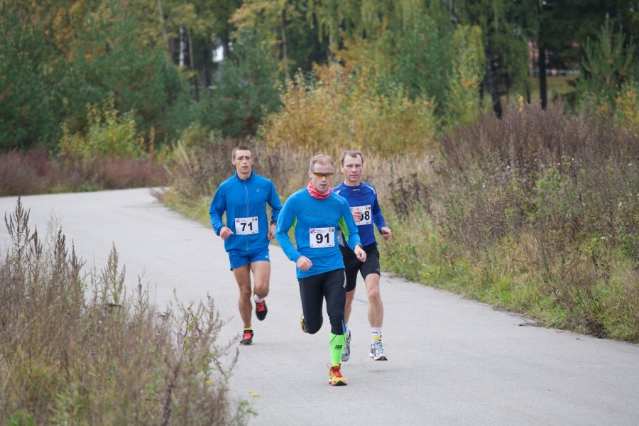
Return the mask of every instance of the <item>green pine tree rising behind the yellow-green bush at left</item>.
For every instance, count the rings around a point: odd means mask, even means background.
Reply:
[[[160,141],[187,126],[190,103],[182,77],[160,45],[141,42],[137,29],[137,16],[117,7],[87,20],[78,36],[73,80],[66,86],[72,111],[67,124],[73,133],[86,125],[85,105],[102,104],[111,96],[116,110],[134,111],[141,131],[153,126]]]

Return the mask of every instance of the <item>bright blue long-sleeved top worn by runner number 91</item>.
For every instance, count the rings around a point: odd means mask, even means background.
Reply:
[[[288,236],[288,230],[292,227],[295,229],[297,248]],[[312,261],[313,266],[308,271],[295,267],[297,278],[344,268],[342,252],[336,240],[338,228],[344,232],[351,249],[360,244],[357,226],[344,197],[332,192],[326,200],[317,200],[310,196],[306,188],[288,197],[275,228],[275,239],[291,261],[297,262],[302,256]]]

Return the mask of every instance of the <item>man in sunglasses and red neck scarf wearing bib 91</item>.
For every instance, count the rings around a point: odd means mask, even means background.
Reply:
[[[337,229],[342,227],[346,243],[360,261],[366,252],[359,244],[357,226],[348,202],[333,192],[330,185],[334,174],[333,160],[328,155],[311,158],[307,187],[294,192],[284,203],[275,239],[286,256],[295,262],[302,300],[302,331],[315,334],[322,327],[322,304],[331,323],[329,384],[346,385],[342,376],[342,353],[346,339],[344,304],[346,276],[344,261],[337,243]],[[295,246],[288,231],[295,228]]]

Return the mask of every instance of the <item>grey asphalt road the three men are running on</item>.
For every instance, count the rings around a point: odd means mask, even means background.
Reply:
[[[40,234],[62,227],[87,266],[102,268],[113,245],[128,285],[173,298],[214,298],[239,339],[237,289],[222,240],[184,219],[147,189],[22,198]],[[0,197],[10,214],[16,197]],[[53,220],[52,220],[53,218]],[[0,253],[7,231],[0,229]],[[303,334],[295,266],[271,246],[268,317],[254,320],[254,344],[237,346],[230,384],[258,415],[249,425],[639,425],[639,346],[555,329],[383,274],[384,345],[368,358],[366,294],[351,314],[348,386],[327,384],[329,327]],[[363,285],[359,288],[361,290]],[[235,347],[235,345],[234,345]]]

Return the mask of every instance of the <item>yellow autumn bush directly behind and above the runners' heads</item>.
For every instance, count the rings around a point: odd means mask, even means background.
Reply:
[[[338,64],[316,67],[315,80],[298,74],[282,93],[283,107],[266,117],[260,136],[266,146],[293,146],[326,153],[346,148],[395,154],[435,151],[433,102],[368,87],[366,73]]]

